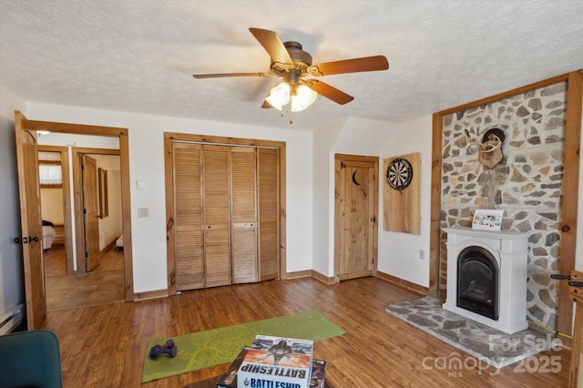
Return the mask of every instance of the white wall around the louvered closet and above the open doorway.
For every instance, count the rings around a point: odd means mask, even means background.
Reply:
[[[135,292],[167,288],[165,131],[285,141],[287,271],[312,269],[312,133],[302,131],[301,124],[261,128],[35,102],[26,108],[34,120],[128,128]],[[144,180],[145,189],[137,189],[138,179]],[[138,218],[138,208],[148,208],[149,217]]]

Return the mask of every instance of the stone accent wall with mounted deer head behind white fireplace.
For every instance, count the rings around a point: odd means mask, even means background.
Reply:
[[[551,328],[557,317],[558,286],[550,274],[560,256],[566,88],[559,82],[443,118],[441,229],[471,227],[476,209],[504,210],[502,230],[530,235],[527,319]],[[499,155],[481,158],[489,148]],[[445,241],[442,232],[442,290]]]

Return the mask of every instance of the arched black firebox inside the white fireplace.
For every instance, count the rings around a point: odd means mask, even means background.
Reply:
[[[482,247],[467,247],[457,258],[457,307],[498,320],[498,264]]]

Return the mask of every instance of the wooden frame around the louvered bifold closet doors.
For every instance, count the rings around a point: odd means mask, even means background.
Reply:
[[[287,279],[286,271],[286,208],[285,171],[286,144],[283,141],[255,140],[249,138],[224,138],[175,132],[164,132],[164,176],[166,181],[166,240],[168,264],[168,295],[176,293],[176,265],[174,261],[174,179],[172,168],[172,141],[186,141],[216,146],[244,146],[279,148],[279,206],[280,206],[280,279]]]

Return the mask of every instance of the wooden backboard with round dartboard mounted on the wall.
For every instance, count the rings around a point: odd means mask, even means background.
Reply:
[[[421,154],[384,159],[384,230],[421,233]]]

